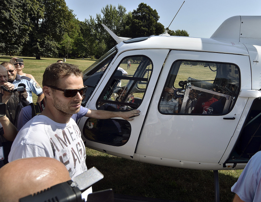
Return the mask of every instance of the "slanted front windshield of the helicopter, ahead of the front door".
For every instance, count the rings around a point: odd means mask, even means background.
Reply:
[[[84,99],[82,100],[84,107],[116,53],[117,49],[112,48],[83,72],[84,85],[88,86]]]

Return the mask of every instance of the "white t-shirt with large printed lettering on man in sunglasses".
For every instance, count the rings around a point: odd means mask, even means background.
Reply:
[[[12,144],[8,161],[37,156],[61,161],[71,178],[87,170],[81,132],[72,118],[68,123],[61,124],[38,115],[21,128]]]

